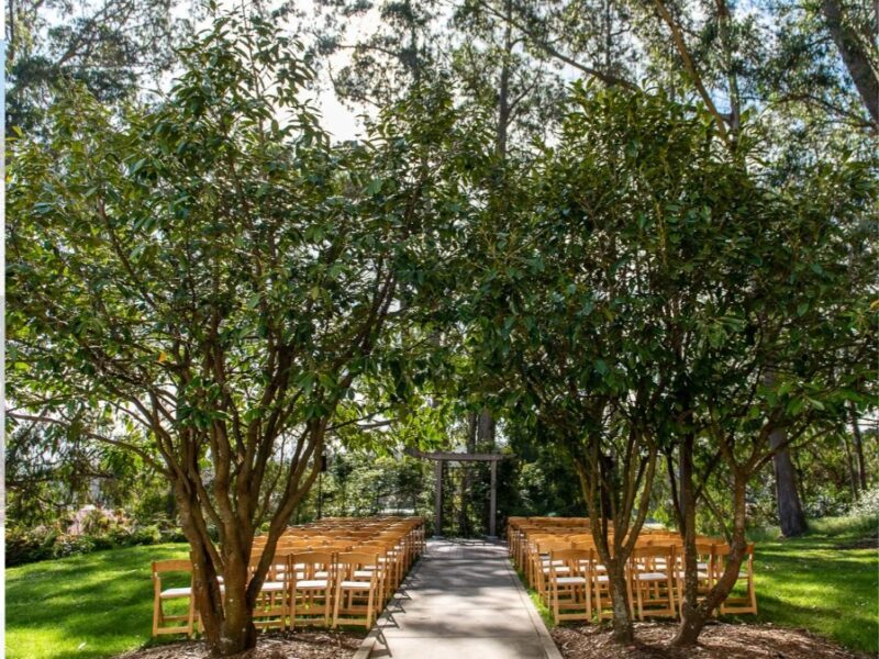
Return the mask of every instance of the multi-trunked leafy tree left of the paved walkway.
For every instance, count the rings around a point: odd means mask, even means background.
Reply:
[[[243,13],[180,66],[165,102],[122,119],[71,88],[46,138],[12,147],[9,417],[168,479],[204,634],[226,656],[255,644],[269,557],[327,428],[443,292],[431,273],[482,146],[422,89],[371,141],[330,147],[300,100],[301,47]]]

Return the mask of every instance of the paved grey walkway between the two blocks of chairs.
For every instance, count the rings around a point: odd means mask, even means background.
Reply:
[[[560,659],[507,558],[478,540],[430,540],[379,619],[370,657]]]

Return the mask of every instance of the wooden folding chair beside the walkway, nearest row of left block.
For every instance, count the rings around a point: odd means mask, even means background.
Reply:
[[[378,555],[349,551],[340,554],[336,562],[336,591],[333,627],[344,625],[372,626],[379,597]]]

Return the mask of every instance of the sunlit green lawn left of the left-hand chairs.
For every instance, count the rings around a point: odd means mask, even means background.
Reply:
[[[185,544],[154,545],[8,569],[5,656],[97,659],[144,645],[153,624],[149,561],[188,555]]]

